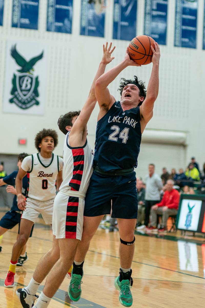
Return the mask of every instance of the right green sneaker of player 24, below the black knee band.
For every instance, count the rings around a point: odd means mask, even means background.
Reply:
[[[130,288],[132,288],[132,284],[133,284],[133,280],[132,278],[130,279],[126,279],[126,280],[122,280],[121,282],[119,281],[119,277],[115,278],[115,287],[117,290],[120,291],[120,295],[119,295],[119,301],[120,304],[122,304],[125,307],[130,307],[132,306],[132,293],[130,291]]]

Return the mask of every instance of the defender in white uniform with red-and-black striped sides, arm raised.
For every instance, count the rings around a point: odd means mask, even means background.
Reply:
[[[53,205],[53,247],[38,262],[26,288],[17,295],[23,307],[32,307],[39,285],[48,275],[43,291],[34,308],[46,308],[71,267],[83,227],[84,199],[92,174],[93,151],[87,142],[87,123],[96,105],[95,81],[112,61],[112,43],[103,45],[103,58],[81,112],[61,115],[60,130],[66,135],[63,153],[64,180]],[[80,87],[80,81],[79,87]],[[49,274],[48,274],[49,273]],[[72,272],[72,278],[76,279]],[[75,282],[74,282],[75,283]]]

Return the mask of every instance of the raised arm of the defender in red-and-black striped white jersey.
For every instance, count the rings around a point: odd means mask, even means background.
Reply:
[[[106,46],[103,45],[103,57],[93,80],[88,99],[86,100],[85,105],[80,112],[80,115],[73,124],[71,132],[69,133],[69,142],[72,142],[72,146],[79,146],[79,142],[82,142],[83,132],[86,130],[90,115],[97,103],[95,95],[95,82],[104,73],[106,65],[114,59],[114,57],[111,57],[111,54],[114,51],[115,47],[113,47],[112,50],[111,47],[112,43],[110,43],[109,47],[108,43],[106,43]],[[73,142],[77,143],[78,145],[73,145]]]

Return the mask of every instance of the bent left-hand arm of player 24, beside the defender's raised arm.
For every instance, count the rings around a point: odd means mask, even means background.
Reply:
[[[127,48],[124,60],[97,79],[95,83],[95,93],[100,106],[100,117],[102,117],[115,102],[115,98],[110,95],[108,85],[120,74],[121,71],[130,65],[141,66],[130,59]]]

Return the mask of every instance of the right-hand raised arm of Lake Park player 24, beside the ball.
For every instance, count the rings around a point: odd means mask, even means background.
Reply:
[[[141,115],[141,129],[144,131],[145,126],[152,119],[154,102],[156,101],[159,91],[159,63],[160,63],[160,47],[158,43],[154,43],[155,49],[151,46],[153,51],[152,56],[152,73],[147,87],[147,95],[140,106]]]

